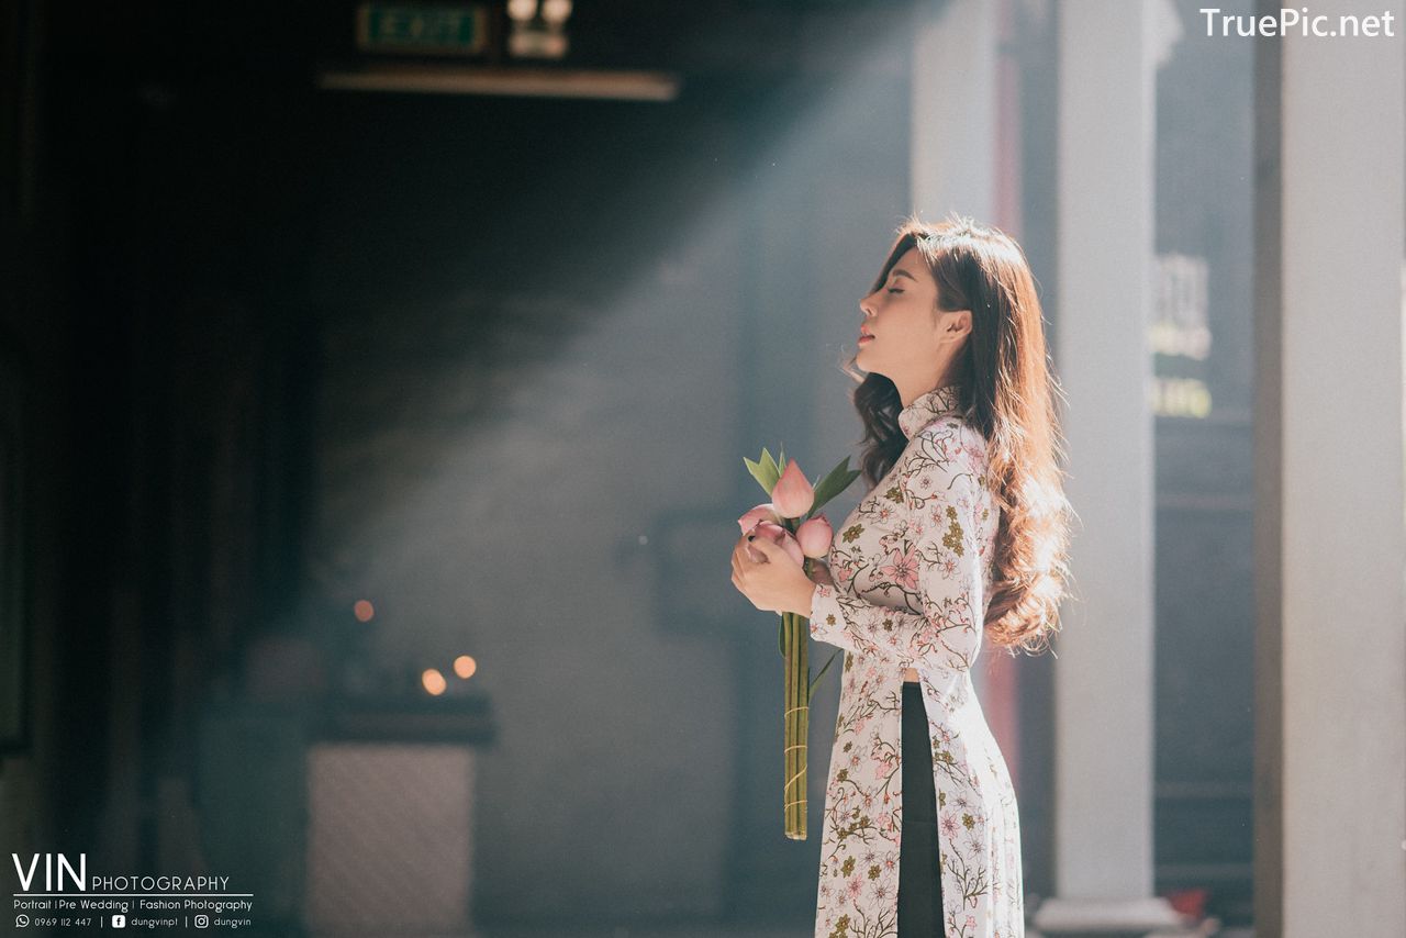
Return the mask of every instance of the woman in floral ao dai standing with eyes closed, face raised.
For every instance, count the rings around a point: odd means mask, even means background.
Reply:
[[[1069,575],[1035,281],[994,228],[910,219],[859,308],[869,494],[815,582],[765,537],[733,551],[758,609],[848,653],[815,938],[1024,935],[1015,790],[972,667],[983,636],[1047,647]]]

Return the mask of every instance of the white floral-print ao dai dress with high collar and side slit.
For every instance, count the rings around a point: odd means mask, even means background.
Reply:
[[[957,385],[898,413],[908,444],[835,530],[834,586],[810,634],[845,650],[825,783],[815,938],[896,937],[903,831],[903,676],[922,683],[945,938],[1025,934],[1015,789],[972,682],[1000,508],[986,440]]]

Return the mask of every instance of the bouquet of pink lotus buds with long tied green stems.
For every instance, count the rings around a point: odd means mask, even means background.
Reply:
[[[814,572],[815,561],[830,553],[830,541],[834,537],[830,522],[818,512],[825,502],[849,488],[849,484],[859,477],[859,470],[849,468],[849,457],[846,456],[825,478],[811,485],[794,460],[786,461],[785,449],[782,449],[779,460],[773,460],[772,454],[762,449],[759,460],[744,458],[742,463],[747,464],[752,478],[772,501],[758,505],[738,518],[738,526],[744,534],[766,537],[779,544],[810,577]],[[752,553],[755,555],[755,551]],[[782,813],[786,823],[786,837],[803,841],[806,840],[806,740],[810,733],[810,698],[815,692],[815,685],[830,671],[830,665],[842,653],[832,654],[815,679],[811,681],[810,620],[794,612],[779,615],[782,622],[778,644],[786,672],[785,712],[782,713],[783,778],[786,782],[782,786]]]

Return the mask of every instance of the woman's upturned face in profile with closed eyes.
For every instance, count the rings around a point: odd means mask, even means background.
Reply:
[[[938,283],[917,248],[894,263],[889,278],[859,301],[859,309],[865,319],[855,364],[891,380],[900,392],[908,391],[905,401],[936,387],[953,354],[952,330],[942,328],[953,314],[938,311]]]

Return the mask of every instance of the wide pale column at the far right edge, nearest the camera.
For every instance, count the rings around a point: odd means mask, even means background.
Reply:
[[[1286,938],[1406,935],[1406,10],[1322,13],[1388,11],[1261,75],[1256,925]]]

